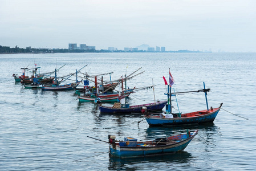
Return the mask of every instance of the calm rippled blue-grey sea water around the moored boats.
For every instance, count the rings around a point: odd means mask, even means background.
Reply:
[[[10,54],[0,55],[0,170],[255,170],[256,54]],[[74,91],[43,92],[15,83],[21,67],[40,66],[40,72],[63,67],[58,75],[75,72],[103,74],[112,79],[142,67],[143,74],[128,87],[156,84],[156,99],[165,100],[162,76],[168,70],[176,92],[211,88],[209,107],[224,103],[213,124],[178,128],[149,128],[141,115],[100,115],[94,103],[79,103]],[[104,76],[109,80],[109,76]],[[92,85],[92,83],[91,83]],[[152,89],[133,93],[129,104],[154,101]],[[177,96],[180,111],[206,108],[204,93]],[[177,109],[176,105],[174,108]],[[249,120],[235,116],[231,113]],[[131,136],[138,140],[176,135],[198,129],[184,152],[136,159],[109,158],[108,141]]]

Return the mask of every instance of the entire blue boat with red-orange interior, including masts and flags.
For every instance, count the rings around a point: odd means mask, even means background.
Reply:
[[[172,76],[170,75],[170,77]],[[206,89],[205,83],[204,83],[204,89],[199,89],[197,91],[187,91],[187,92],[174,91],[174,93],[171,93],[171,86],[169,87],[168,85],[168,93],[166,94],[168,96],[168,105],[166,105],[166,112],[160,113],[160,114],[157,113],[157,115],[154,115],[154,113],[147,113],[147,115],[145,115],[144,117],[150,126],[165,126],[165,125],[177,126],[177,125],[190,125],[190,124],[201,124],[201,123],[213,122],[216,116],[218,115],[218,112],[220,111],[223,103],[221,103],[220,107],[218,108],[210,107],[209,109],[208,100],[207,100],[207,92],[209,91],[210,91],[210,88]],[[178,111],[179,111],[178,113],[172,113],[171,96],[176,96],[177,94],[183,94],[183,93],[194,93],[194,92],[205,93],[207,109],[182,114],[180,113],[180,109],[178,108]]]

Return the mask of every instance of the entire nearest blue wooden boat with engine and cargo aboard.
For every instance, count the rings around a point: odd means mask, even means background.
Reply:
[[[182,151],[190,141],[197,135],[189,131],[185,134],[160,138],[152,141],[138,142],[132,137],[125,137],[124,141],[116,141],[115,136],[108,136],[109,153],[111,157],[129,158],[156,156]]]

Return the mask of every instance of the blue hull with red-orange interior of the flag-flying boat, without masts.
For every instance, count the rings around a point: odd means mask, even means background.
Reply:
[[[189,125],[189,124],[201,124],[213,122],[218,112],[220,111],[222,103],[218,108],[210,108],[190,113],[183,113],[181,117],[176,114],[161,114],[159,116],[145,116],[149,126],[177,126],[177,125]]]

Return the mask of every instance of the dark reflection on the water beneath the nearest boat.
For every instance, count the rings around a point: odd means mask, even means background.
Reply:
[[[182,151],[172,154],[164,154],[151,157],[117,158],[109,156],[109,170],[144,170],[147,169],[147,163],[155,163],[154,166],[162,164],[190,164],[190,159],[194,158],[192,154]],[[141,164],[141,165],[140,165]]]

